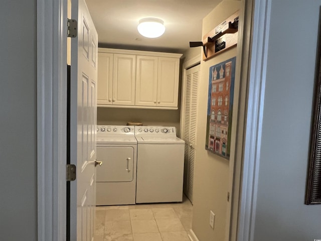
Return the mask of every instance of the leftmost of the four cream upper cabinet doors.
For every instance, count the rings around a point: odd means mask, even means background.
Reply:
[[[98,53],[97,104],[112,104],[112,54]]]

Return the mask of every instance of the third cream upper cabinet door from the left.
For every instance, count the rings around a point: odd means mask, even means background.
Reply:
[[[157,105],[158,57],[137,55],[135,105]]]

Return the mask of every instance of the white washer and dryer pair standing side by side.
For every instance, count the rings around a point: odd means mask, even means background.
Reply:
[[[96,205],[181,202],[184,141],[175,127],[98,126]]]

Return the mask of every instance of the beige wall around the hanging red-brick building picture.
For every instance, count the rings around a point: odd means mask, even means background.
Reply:
[[[240,1],[223,1],[203,19],[203,35],[214,29],[227,17],[239,10],[240,7]],[[229,161],[206,151],[205,139],[209,67],[232,58],[236,54],[237,48],[233,48],[208,61],[201,61],[192,224],[192,229],[200,241],[225,240],[226,229],[228,228],[226,226],[226,218],[228,211]],[[186,56],[188,56],[186,60],[192,58],[193,55],[196,55],[194,50],[186,53]],[[237,79],[236,76],[235,81]],[[235,88],[235,91],[238,91],[237,88]],[[234,99],[235,105],[237,105],[236,99]],[[234,122],[232,125],[236,125],[236,123]],[[233,141],[235,142],[235,140],[232,140],[232,143]],[[231,152],[233,152],[233,146],[231,147]],[[209,225],[210,210],[215,213],[214,230]]]

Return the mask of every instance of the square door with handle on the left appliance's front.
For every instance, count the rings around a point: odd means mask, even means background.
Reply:
[[[133,147],[97,147],[97,160],[103,165],[97,168],[96,182],[131,182],[133,180]]]

